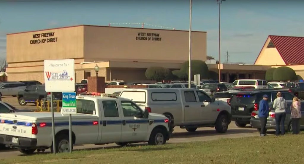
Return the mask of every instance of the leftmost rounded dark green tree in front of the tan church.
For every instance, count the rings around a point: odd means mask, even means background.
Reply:
[[[169,80],[172,77],[171,71],[163,67],[149,67],[146,70],[146,78],[149,80]]]

